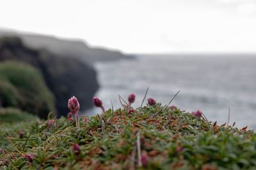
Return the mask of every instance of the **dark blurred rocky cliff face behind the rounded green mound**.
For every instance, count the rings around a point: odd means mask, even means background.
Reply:
[[[73,95],[79,99],[81,110],[92,106],[93,94],[99,88],[97,73],[76,57],[29,48],[20,38],[9,36],[0,38],[1,60],[18,60],[40,69],[47,86],[56,97],[59,115],[67,114],[67,99]]]

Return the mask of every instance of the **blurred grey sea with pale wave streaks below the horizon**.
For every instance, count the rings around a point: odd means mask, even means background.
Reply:
[[[105,108],[122,107],[120,95],[127,100],[136,94],[132,106],[138,107],[145,92],[157,102],[188,112],[201,110],[218,124],[236,122],[235,127],[256,129],[256,55],[136,55],[134,59],[97,62],[100,89],[95,94]],[[86,114],[100,113],[99,108]]]

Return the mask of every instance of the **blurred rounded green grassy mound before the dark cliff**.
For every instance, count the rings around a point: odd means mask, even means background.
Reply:
[[[35,67],[20,62],[0,63],[0,101],[4,107],[15,107],[45,117],[54,110],[54,96]]]

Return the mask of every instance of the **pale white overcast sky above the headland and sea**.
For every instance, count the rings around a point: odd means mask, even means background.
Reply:
[[[0,0],[0,28],[125,53],[256,53],[256,0]]]

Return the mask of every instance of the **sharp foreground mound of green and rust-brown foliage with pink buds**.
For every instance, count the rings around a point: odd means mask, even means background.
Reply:
[[[256,134],[161,104],[31,122],[0,155],[3,169],[256,169]],[[74,146],[77,143],[79,146]],[[28,157],[28,153],[33,156]],[[26,158],[25,158],[26,157]]]

